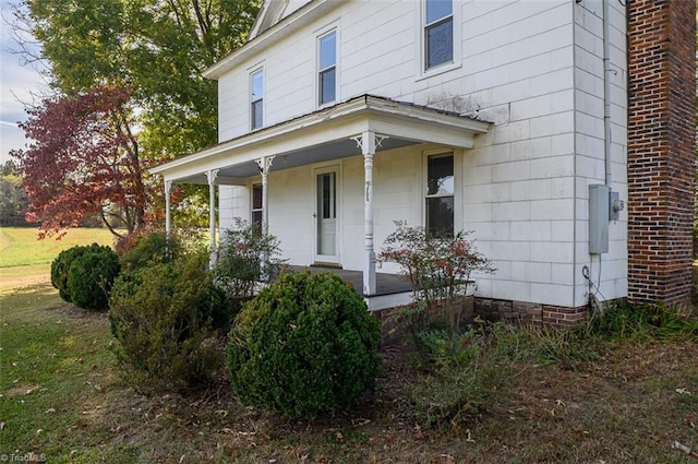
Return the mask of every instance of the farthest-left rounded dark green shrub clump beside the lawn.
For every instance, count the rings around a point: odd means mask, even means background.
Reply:
[[[62,251],[51,263],[51,284],[60,297],[86,309],[106,309],[121,266],[109,247],[92,243]]]

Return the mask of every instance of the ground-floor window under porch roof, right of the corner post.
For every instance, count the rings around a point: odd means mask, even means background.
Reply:
[[[454,155],[426,158],[426,234],[447,237],[454,234]]]

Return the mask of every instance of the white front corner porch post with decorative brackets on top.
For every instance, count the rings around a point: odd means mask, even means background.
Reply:
[[[363,154],[363,174],[365,195],[363,201],[363,229],[364,229],[364,262],[363,262],[363,295],[370,296],[376,293],[375,277],[375,249],[373,245],[373,155],[376,147],[387,139],[376,135],[373,131],[364,131],[361,135],[351,138]]]

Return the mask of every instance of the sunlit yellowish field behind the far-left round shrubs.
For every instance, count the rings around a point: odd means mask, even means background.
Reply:
[[[76,245],[112,245],[107,229],[73,228],[62,239],[37,239],[37,229],[0,227],[0,267],[50,263],[61,251]]]

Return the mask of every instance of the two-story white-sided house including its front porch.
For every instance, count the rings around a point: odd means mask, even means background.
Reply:
[[[579,320],[628,295],[626,11],[266,0],[204,74],[219,144],[152,171],[218,189],[218,227],[258,221],[291,264],[362,271],[366,296],[395,221],[474,230],[483,308]]]

